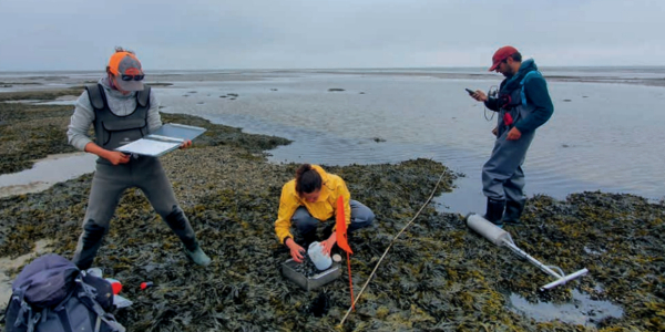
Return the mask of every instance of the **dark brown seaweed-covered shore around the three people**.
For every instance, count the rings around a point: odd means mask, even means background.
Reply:
[[[7,105],[0,103],[0,115],[13,107],[13,117],[7,117],[12,127],[38,132],[53,125],[52,139],[61,138],[58,133],[64,128],[58,124],[66,115],[60,106]],[[24,123],[45,114],[53,115],[51,122],[31,127]],[[288,252],[276,240],[273,222],[282,185],[297,165],[269,164],[264,152],[288,141],[244,134],[194,116],[164,114],[164,120],[208,128],[195,142],[196,148],[174,152],[162,162],[213,263],[203,269],[187,262],[177,239],[143,194],[127,190],[95,260],[105,276],[123,282],[123,295],[134,301],[130,309],[117,310],[120,321],[131,331],[336,329],[349,304],[346,272],[311,292],[279,273]],[[60,145],[45,146],[54,146],[44,148],[49,154],[62,153]],[[376,227],[351,238],[356,294],[432,190],[452,190],[456,179],[446,166],[428,159],[326,169],[342,176],[352,197],[377,215]],[[84,175],[41,193],[0,198],[0,257],[17,260],[43,239],[52,241],[48,251],[71,257],[90,180],[91,175]],[[530,199],[524,226],[507,228],[515,243],[565,272],[590,270],[589,276],[543,293],[539,287],[552,281],[549,276],[470,231],[461,216],[426,206],[395,242],[340,330],[665,329],[664,220],[664,203],[631,195],[582,193],[564,201],[545,196]],[[18,272],[4,269],[9,279]],[[155,287],[141,291],[143,281]],[[621,307],[623,315],[583,312],[583,323],[564,317],[543,320],[514,310],[507,295],[518,294],[531,303],[567,303],[573,290]]]

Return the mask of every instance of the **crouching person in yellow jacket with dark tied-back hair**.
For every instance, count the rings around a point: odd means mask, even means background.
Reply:
[[[296,178],[286,183],[279,198],[279,212],[275,221],[277,238],[290,249],[290,255],[297,262],[303,262],[305,249],[294,240],[290,234],[291,222],[308,246],[316,238],[316,227],[334,218],[337,214],[337,199],[344,197],[344,211],[347,231],[371,225],[375,214],[359,201],[351,200],[349,189],[341,177],[326,173],[320,166],[303,164],[296,170]],[[335,225],[335,220],[331,220]],[[321,242],[324,252],[330,255],[330,249],[337,242],[337,232]]]

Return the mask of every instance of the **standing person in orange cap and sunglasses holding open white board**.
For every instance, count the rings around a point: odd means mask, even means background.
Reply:
[[[190,259],[200,266],[211,262],[198,246],[190,220],[177,205],[160,159],[116,151],[121,145],[162,126],[160,104],[150,86],[143,85],[143,77],[136,55],[117,48],[109,60],[106,75],[98,84],[85,86],[76,100],[68,127],[71,145],[99,156],[83,219],[83,234],[73,258],[83,270],[92,264],[122,193],[131,187],[143,190],[155,211],[181,239]],[[94,142],[88,137],[90,125],[94,127]],[[186,141],[181,147],[191,145],[192,142]]]

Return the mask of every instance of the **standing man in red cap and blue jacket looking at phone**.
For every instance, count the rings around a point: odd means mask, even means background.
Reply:
[[[499,113],[494,148],[482,167],[483,194],[488,197],[485,219],[498,226],[518,224],[526,197],[522,164],[535,129],[554,112],[548,84],[532,59],[522,62],[513,46],[503,46],[492,56],[490,71],[505,76],[495,97],[482,91],[471,96]]]

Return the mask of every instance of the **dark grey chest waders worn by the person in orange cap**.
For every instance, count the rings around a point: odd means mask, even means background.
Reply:
[[[95,144],[113,151],[147,134],[147,113],[151,107],[149,86],[136,93],[136,108],[126,116],[111,112],[104,87],[88,85],[85,89],[94,108]],[[92,266],[122,194],[132,187],[143,191],[155,211],[181,239],[191,259],[198,264],[209,263],[209,258],[198,247],[190,220],[177,205],[171,183],[157,158],[135,156],[126,164],[112,165],[100,157],[83,219],[83,232],[73,258],[80,269]],[[192,257],[193,253],[200,255]]]

